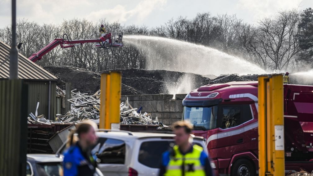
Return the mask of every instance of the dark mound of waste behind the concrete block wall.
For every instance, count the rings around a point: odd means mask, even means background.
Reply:
[[[57,85],[65,90],[65,82],[72,83],[72,89],[81,93],[94,93],[100,89],[100,73],[68,66],[45,66],[45,70],[59,80]],[[259,75],[198,75],[167,70],[117,69],[122,72],[122,95],[168,94],[166,85],[180,84],[184,76],[192,81],[192,89],[202,85],[220,84],[231,81],[257,81]],[[105,70],[108,71],[108,70]],[[103,72],[105,72],[103,71]],[[295,75],[290,75],[291,84],[299,84]],[[303,83],[302,83],[303,84]],[[312,85],[311,83],[306,83]]]

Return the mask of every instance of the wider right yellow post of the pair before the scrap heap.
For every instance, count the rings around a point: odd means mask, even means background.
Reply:
[[[121,72],[110,71],[110,108],[109,128],[120,129],[120,104],[121,104]],[[108,127],[108,126],[105,127]]]

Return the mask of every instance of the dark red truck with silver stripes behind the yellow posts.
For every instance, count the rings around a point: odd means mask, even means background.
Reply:
[[[206,146],[220,175],[258,173],[258,82],[204,85],[182,102],[183,119]],[[313,86],[284,85],[286,173],[313,170]]]

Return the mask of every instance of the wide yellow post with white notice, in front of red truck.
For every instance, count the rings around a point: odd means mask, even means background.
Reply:
[[[272,76],[272,148],[274,175],[285,175],[283,76]]]

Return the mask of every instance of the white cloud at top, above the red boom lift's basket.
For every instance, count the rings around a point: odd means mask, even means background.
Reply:
[[[106,18],[109,21],[126,22],[129,18],[135,17],[137,21],[144,20],[154,9],[162,8],[166,0],[144,0],[136,5],[135,8],[127,10],[125,6],[116,5],[112,9],[103,9],[91,12],[86,16],[88,19]]]

